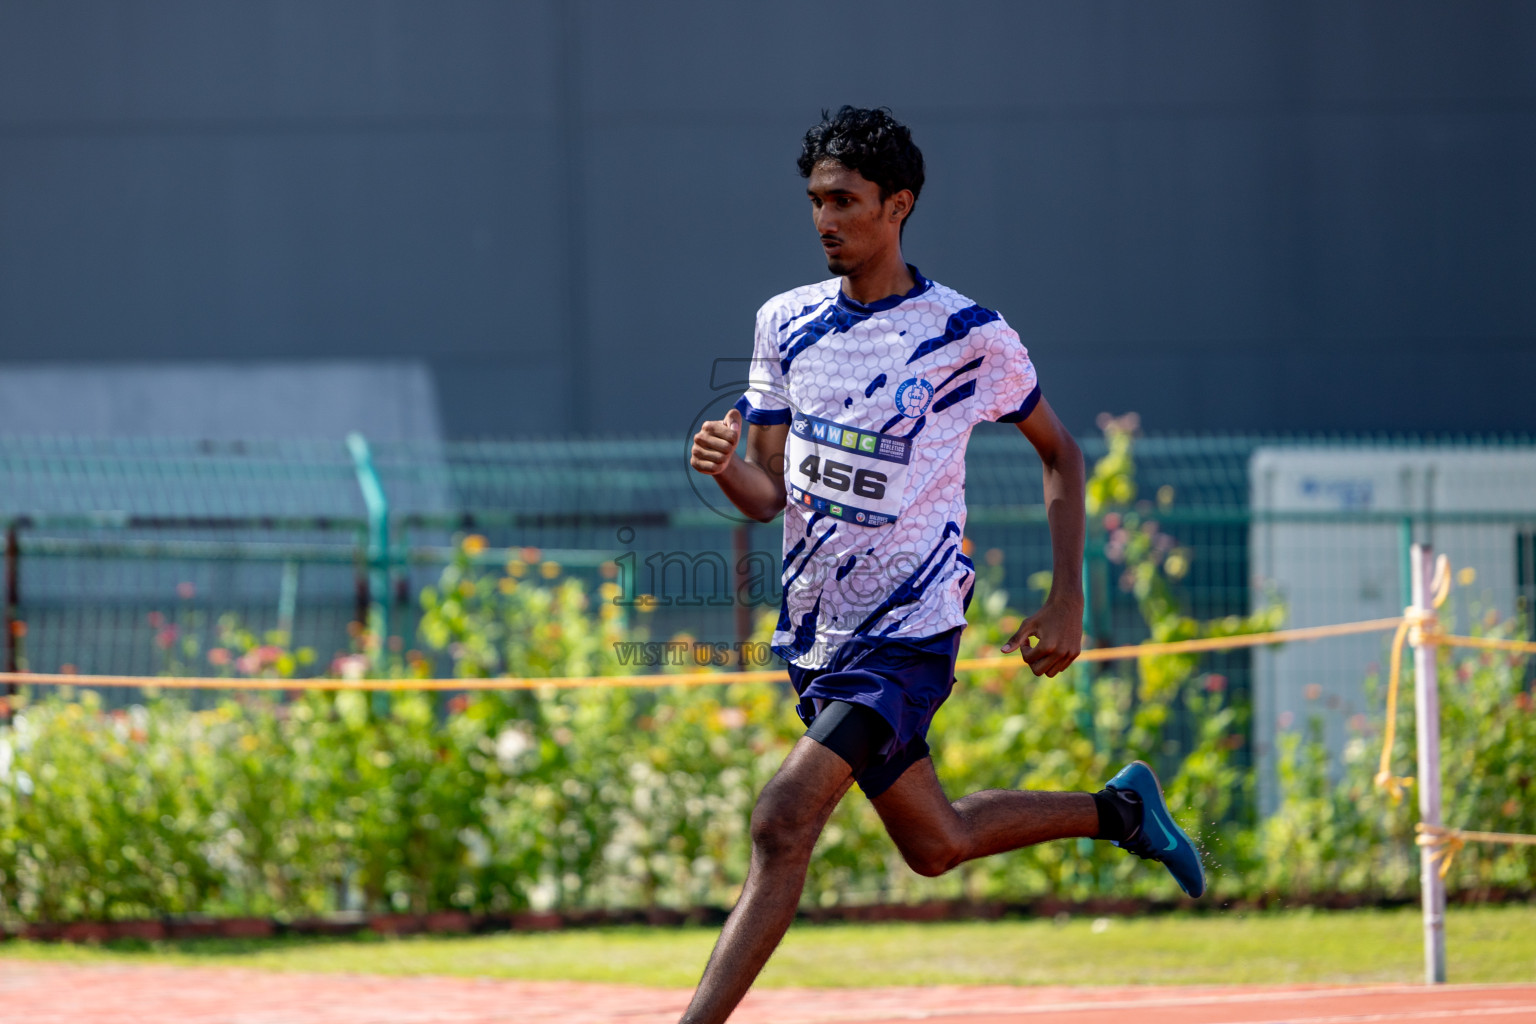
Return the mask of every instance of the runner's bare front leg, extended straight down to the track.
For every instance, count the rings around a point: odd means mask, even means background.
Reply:
[[[802,737],[753,809],[753,857],[742,898],[710,953],[682,1024],[722,1024],[794,921],[811,851],[852,785],[848,761]]]

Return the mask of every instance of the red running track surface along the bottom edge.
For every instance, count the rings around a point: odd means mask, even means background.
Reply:
[[[671,1024],[677,989],[306,975],[0,960],[0,1019],[25,1024]],[[1244,989],[766,989],[733,1024],[1353,1024],[1536,1021],[1536,984]]]

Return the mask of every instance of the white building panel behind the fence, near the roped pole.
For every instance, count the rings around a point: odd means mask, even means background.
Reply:
[[[1407,547],[1435,545],[1455,570],[1452,614],[1519,611],[1518,557],[1536,533],[1536,448],[1266,447],[1249,461],[1253,525],[1249,557],[1255,603],[1278,597],[1289,626],[1382,619],[1409,603]],[[1522,537],[1525,537],[1522,543]],[[1278,801],[1275,740],[1316,717],[1329,748],[1342,751],[1349,720],[1379,712],[1390,634],[1339,637],[1260,649],[1253,657],[1253,751],[1260,808]],[[1455,685],[1445,682],[1444,685]],[[1310,695],[1309,695],[1310,694]]]

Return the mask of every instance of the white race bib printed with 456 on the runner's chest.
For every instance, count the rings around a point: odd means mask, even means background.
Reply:
[[[797,413],[785,447],[790,500],[862,527],[895,522],[911,441]]]

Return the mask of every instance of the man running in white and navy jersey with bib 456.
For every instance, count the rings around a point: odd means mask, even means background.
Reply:
[[[751,384],[723,421],[703,424],[691,464],[743,514],[783,513],[774,651],[809,728],[757,798],[746,884],[685,1024],[725,1021],[746,995],[854,783],[923,875],[1089,837],[1161,861],[1192,897],[1204,892],[1200,857],[1141,761],[1095,794],[991,789],[951,801],[938,785],[928,726],[954,685],[975,582],[962,551],[971,428],[1015,424],[1044,465],[1051,593],[1003,645],[1035,676],[1055,676],[1081,649],[1083,454],[1003,318],[902,258],[923,189],[911,132],[889,111],[845,106],[806,132],[799,167],[839,276],[757,312]]]

